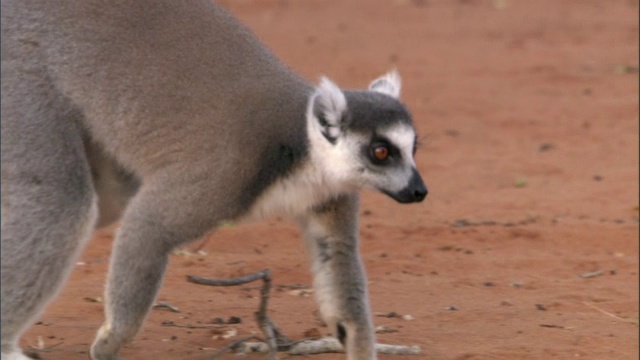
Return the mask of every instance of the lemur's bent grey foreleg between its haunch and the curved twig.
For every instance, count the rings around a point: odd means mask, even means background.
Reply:
[[[158,182],[144,183],[116,234],[105,290],[106,319],[91,347],[94,360],[118,359],[119,350],[138,333],[171,250],[203,236],[228,214],[217,211],[215,204],[221,202],[208,196],[213,193],[209,186],[176,186],[166,178]]]

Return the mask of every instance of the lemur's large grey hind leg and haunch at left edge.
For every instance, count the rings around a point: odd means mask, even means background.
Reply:
[[[21,359],[20,335],[71,273],[97,209],[74,112],[46,76],[18,75],[5,65],[3,59],[2,358]]]

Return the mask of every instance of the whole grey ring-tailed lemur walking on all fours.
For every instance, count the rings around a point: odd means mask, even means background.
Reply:
[[[126,207],[92,359],[138,332],[173,248],[273,215],[300,225],[348,359],[376,358],[358,191],[427,194],[395,72],[367,90],[309,84],[208,0],[3,0],[1,25],[3,359],[26,359],[21,334],[113,189],[131,199],[108,205]],[[120,167],[125,186],[105,185]]]

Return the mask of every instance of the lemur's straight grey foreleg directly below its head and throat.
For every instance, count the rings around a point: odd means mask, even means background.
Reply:
[[[311,256],[320,313],[349,360],[376,359],[367,277],[359,252],[357,194],[316,206],[299,219]]]

